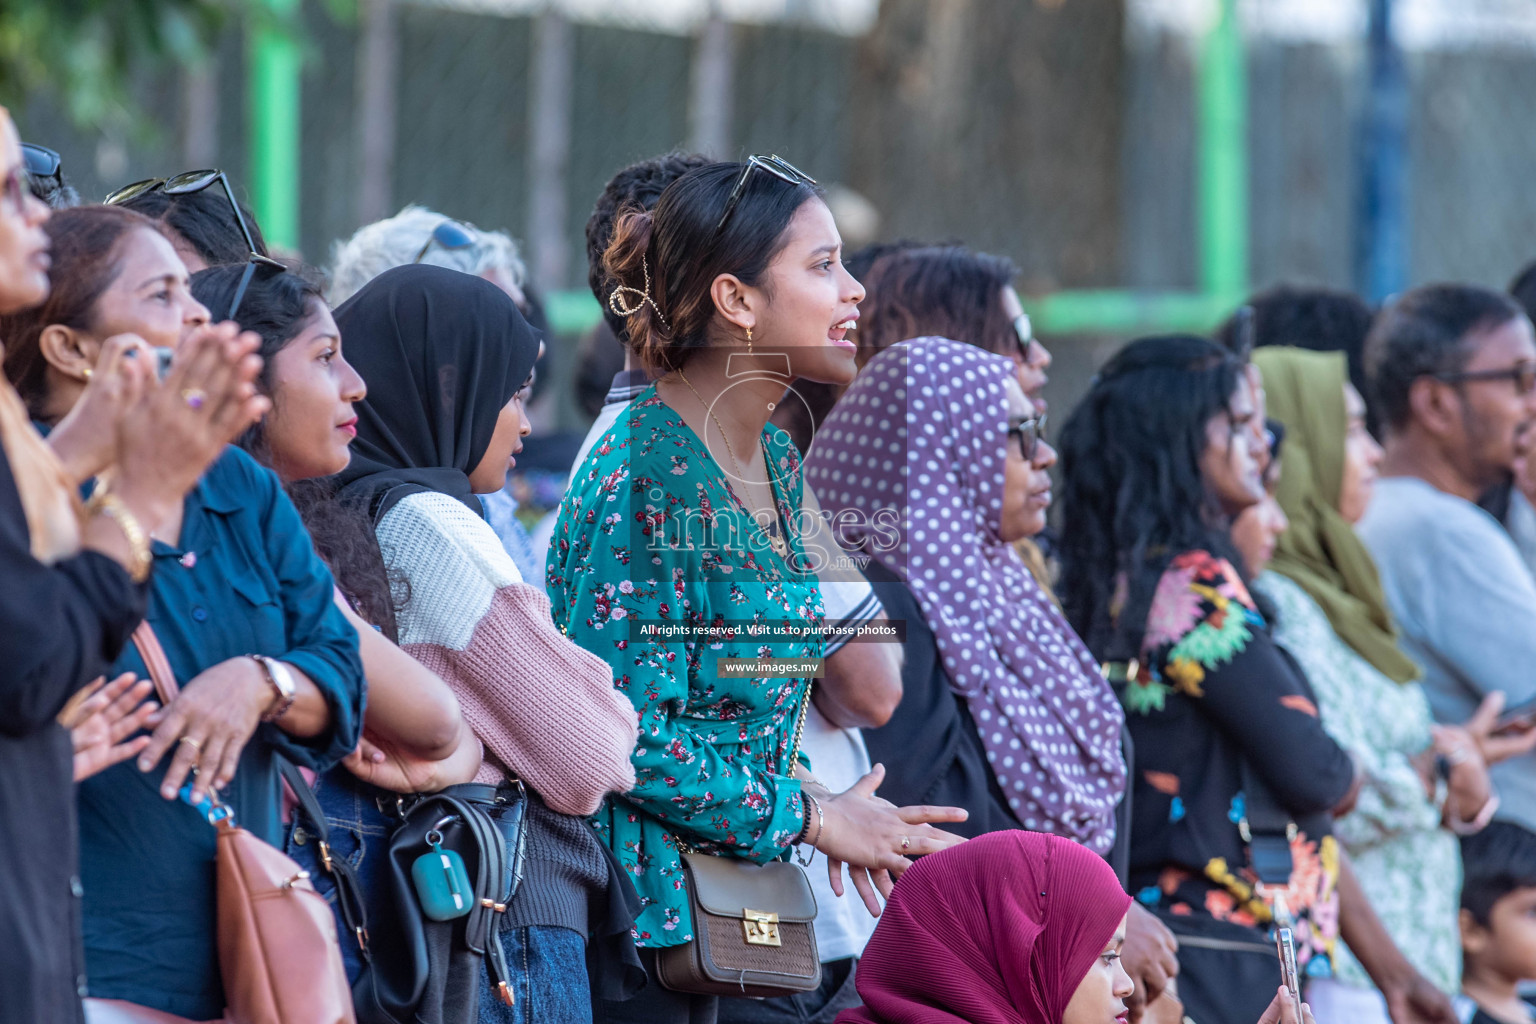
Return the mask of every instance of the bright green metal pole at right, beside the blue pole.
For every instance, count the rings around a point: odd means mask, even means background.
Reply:
[[[1200,290],[1249,287],[1247,75],[1236,0],[1220,0],[1200,49]]]

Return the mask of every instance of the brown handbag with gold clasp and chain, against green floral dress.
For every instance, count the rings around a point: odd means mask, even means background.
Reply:
[[[814,680],[811,680],[814,685]],[[805,688],[790,748],[790,771],[800,757]],[[816,950],[816,895],[799,864],[753,864],[682,847],[693,941],[656,950],[656,973],[667,989],[697,995],[773,998],[822,984]]]

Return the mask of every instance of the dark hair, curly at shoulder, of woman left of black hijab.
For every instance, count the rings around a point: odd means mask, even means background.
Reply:
[[[201,270],[192,275],[192,295],[210,310],[227,310],[244,272],[243,264]],[[319,276],[309,267],[257,269],[250,287],[240,299],[237,319],[241,329],[261,336],[258,353],[263,367],[257,387],[263,395],[272,395],[273,356],[304,332],[315,312],[324,307],[324,301]],[[250,427],[237,444],[263,465],[272,465],[263,424]],[[401,580],[392,580],[384,568],[373,524],[364,513],[336,499],[335,484],[329,477],[290,481],[284,487],[309,530],[315,551],[336,577],[336,586],[359,616],[395,640],[398,633],[393,591],[399,588]]]

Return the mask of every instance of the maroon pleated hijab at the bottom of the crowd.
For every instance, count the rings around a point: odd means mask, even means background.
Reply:
[[[992,832],[917,861],[859,961],[837,1024],[1061,1024],[1130,907],[1072,840]]]

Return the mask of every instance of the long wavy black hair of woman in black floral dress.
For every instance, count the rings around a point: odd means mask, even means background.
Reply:
[[[1057,445],[1058,590],[1098,660],[1140,657],[1152,596],[1175,556],[1204,550],[1241,571],[1230,524],[1200,473],[1206,424],[1230,408],[1241,381],[1232,353],[1206,338],[1141,338],[1100,370],[1068,418]]]

